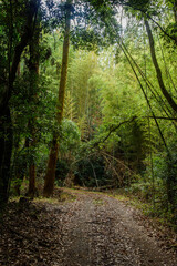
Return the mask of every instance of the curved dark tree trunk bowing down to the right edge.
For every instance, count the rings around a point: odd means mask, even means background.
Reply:
[[[155,51],[155,45],[154,45],[154,38],[153,38],[152,30],[150,30],[150,27],[149,27],[149,23],[148,23],[147,20],[145,20],[145,25],[146,25],[146,31],[147,31],[147,34],[148,34],[152,59],[153,59],[153,63],[154,63],[154,66],[155,66],[155,70],[156,70],[159,88],[162,90],[162,93],[166,98],[167,102],[171,106],[171,109],[177,113],[177,104],[174,101],[174,99],[171,98],[171,95],[168,93],[168,91],[167,91],[167,89],[166,89],[166,86],[164,84],[164,81],[163,81],[162,70],[159,68],[159,64],[158,64],[157,58],[156,58],[156,51]]]

